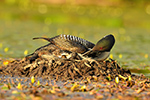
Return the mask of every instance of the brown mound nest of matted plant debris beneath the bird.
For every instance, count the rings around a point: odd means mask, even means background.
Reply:
[[[53,44],[42,46],[22,60],[15,60],[3,66],[0,74],[61,80],[131,75],[129,70],[121,68],[115,60],[96,61],[75,52],[63,51]]]

